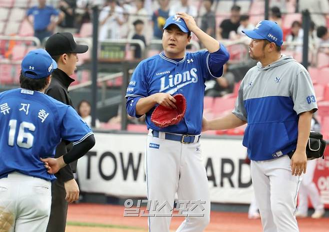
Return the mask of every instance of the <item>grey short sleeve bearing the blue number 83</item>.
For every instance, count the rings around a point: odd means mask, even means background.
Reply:
[[[314,88],[306,70],[301,69],[297,74],[291,85],[290,93],[294,104],[293,110],[297,114],[317,110]]]

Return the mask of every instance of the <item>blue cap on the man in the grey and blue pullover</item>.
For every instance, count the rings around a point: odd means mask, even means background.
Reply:
[[[260,21],[253,30],[243,30],[242,32],[251,39],[268,40],[279,47],[283,43],[283,32],[280,26],[273,21]]]

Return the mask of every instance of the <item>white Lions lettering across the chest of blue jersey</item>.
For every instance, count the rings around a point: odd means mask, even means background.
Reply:
[[[182,74],[177,73],[176,75],[169,75],[168,77],[164,76],[161,77],[161,86],[160,86],[160,92],[168,92],[170,94],[173,94],[171,88],[181,88],[185,85],[188,85],[190,83],[196,83],[198,81],[197,77],[197,69],[192,68],[189,71],[185,71]],[[172,92],[172,93],[171,93]]]

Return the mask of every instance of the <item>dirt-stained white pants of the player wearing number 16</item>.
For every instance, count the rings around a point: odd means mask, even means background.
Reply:
[[[18,172],[0,179],[0,231],[44,232],[50,205],[50,181]]]

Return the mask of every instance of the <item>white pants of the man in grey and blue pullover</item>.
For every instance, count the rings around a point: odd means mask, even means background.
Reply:
[[[251,160],[251,179],[264,232],[298,232],[295,218],[300,176],[291,175],[287,155]]]

